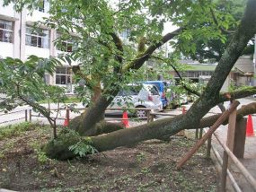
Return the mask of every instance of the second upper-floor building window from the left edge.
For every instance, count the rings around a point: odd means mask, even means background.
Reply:
[[[49,48],[49,30],[26,27],[26,45],[38,48]]]

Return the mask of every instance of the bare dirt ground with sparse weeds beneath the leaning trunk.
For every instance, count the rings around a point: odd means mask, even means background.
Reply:
[[[216,191],[216,169],[203,147],[181,170],[195,140],[173,137],[70,161],[49,160],[40,145],[49,127],[25,125],[1,137],[0,188],[17,191]],[[22,125],[24,127],[24,125]],[[4,131],[2,131],[3,135]]]

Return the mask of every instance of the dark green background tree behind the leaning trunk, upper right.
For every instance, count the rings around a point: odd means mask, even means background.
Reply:
[[[246,5],[245,0],[238,1],[216,1],[210,7],[210,19],[213,22],[199,23],[199,28],[206,25],[213,25],[217,30],[221,31],[221,36],[213,36],[207,40],[196,38],[193,39],[195,43],[195,51],[186,52],[181,50],[181,53],[188,58],[198,60],[199,62],[215,63],[220,60],[225,52],[225,48],[230,43],[234,31],[237,28],[240,19],[243,15],[243,10]],[[248,46],[244,49],[244,55],[253,55],[253,39],[249,42]]]

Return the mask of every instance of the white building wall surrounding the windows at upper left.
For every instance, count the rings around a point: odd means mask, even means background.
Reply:
[[[49,1],[45,0],[44,12],[35,10],[32,14],[25,9],[22,13],[16,13],[13,9],[13,4],[3,7],[3,3],[4,0],[0,0],[0,19],[13,22],[13,43],[0,42],[0,57],[15,57],[25,61],[31,55],[37,57],[57,57],[58,53],[63,53],[57,50],[53,43],[53,40],[57,38],[57,32],[43,25],[40,28],[49,30],[49,48],[37,48],[26,45],[26,26],[32,26],[34,23],[42,22],[43,18],[49,17]],[[64,62],[63,65],[69,66]],[[52,76],[46,74],[46,76],[49,84],[56,84],[56,74]],[[59,86],[66,87],[66,85]]]

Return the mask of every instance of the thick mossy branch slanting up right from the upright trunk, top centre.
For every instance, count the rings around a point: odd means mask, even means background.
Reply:
[[[122,74],[127,72],[129,69],[139,69],[144,64],[144,62],[149,57],[151,57],[151,55],[154,53],[154,50],[156,48],[160,48],[164,43],[166,43],[170,39],[173,39],[174,37],[179,35],[182,30],[183,30],[182,28],[179,28],[178,30],[167,33],[166,35],[163,36],[163,38],[161,40],[159,40],[156,43],[153,43],[151,46],[146,48],[146,51],[138,54],[137,57],[135,57],[135,59],[133,61],[131,61],[130,63],[128,63],[127,65],[125,65],[122,68],[122,70],[121,70]]]

